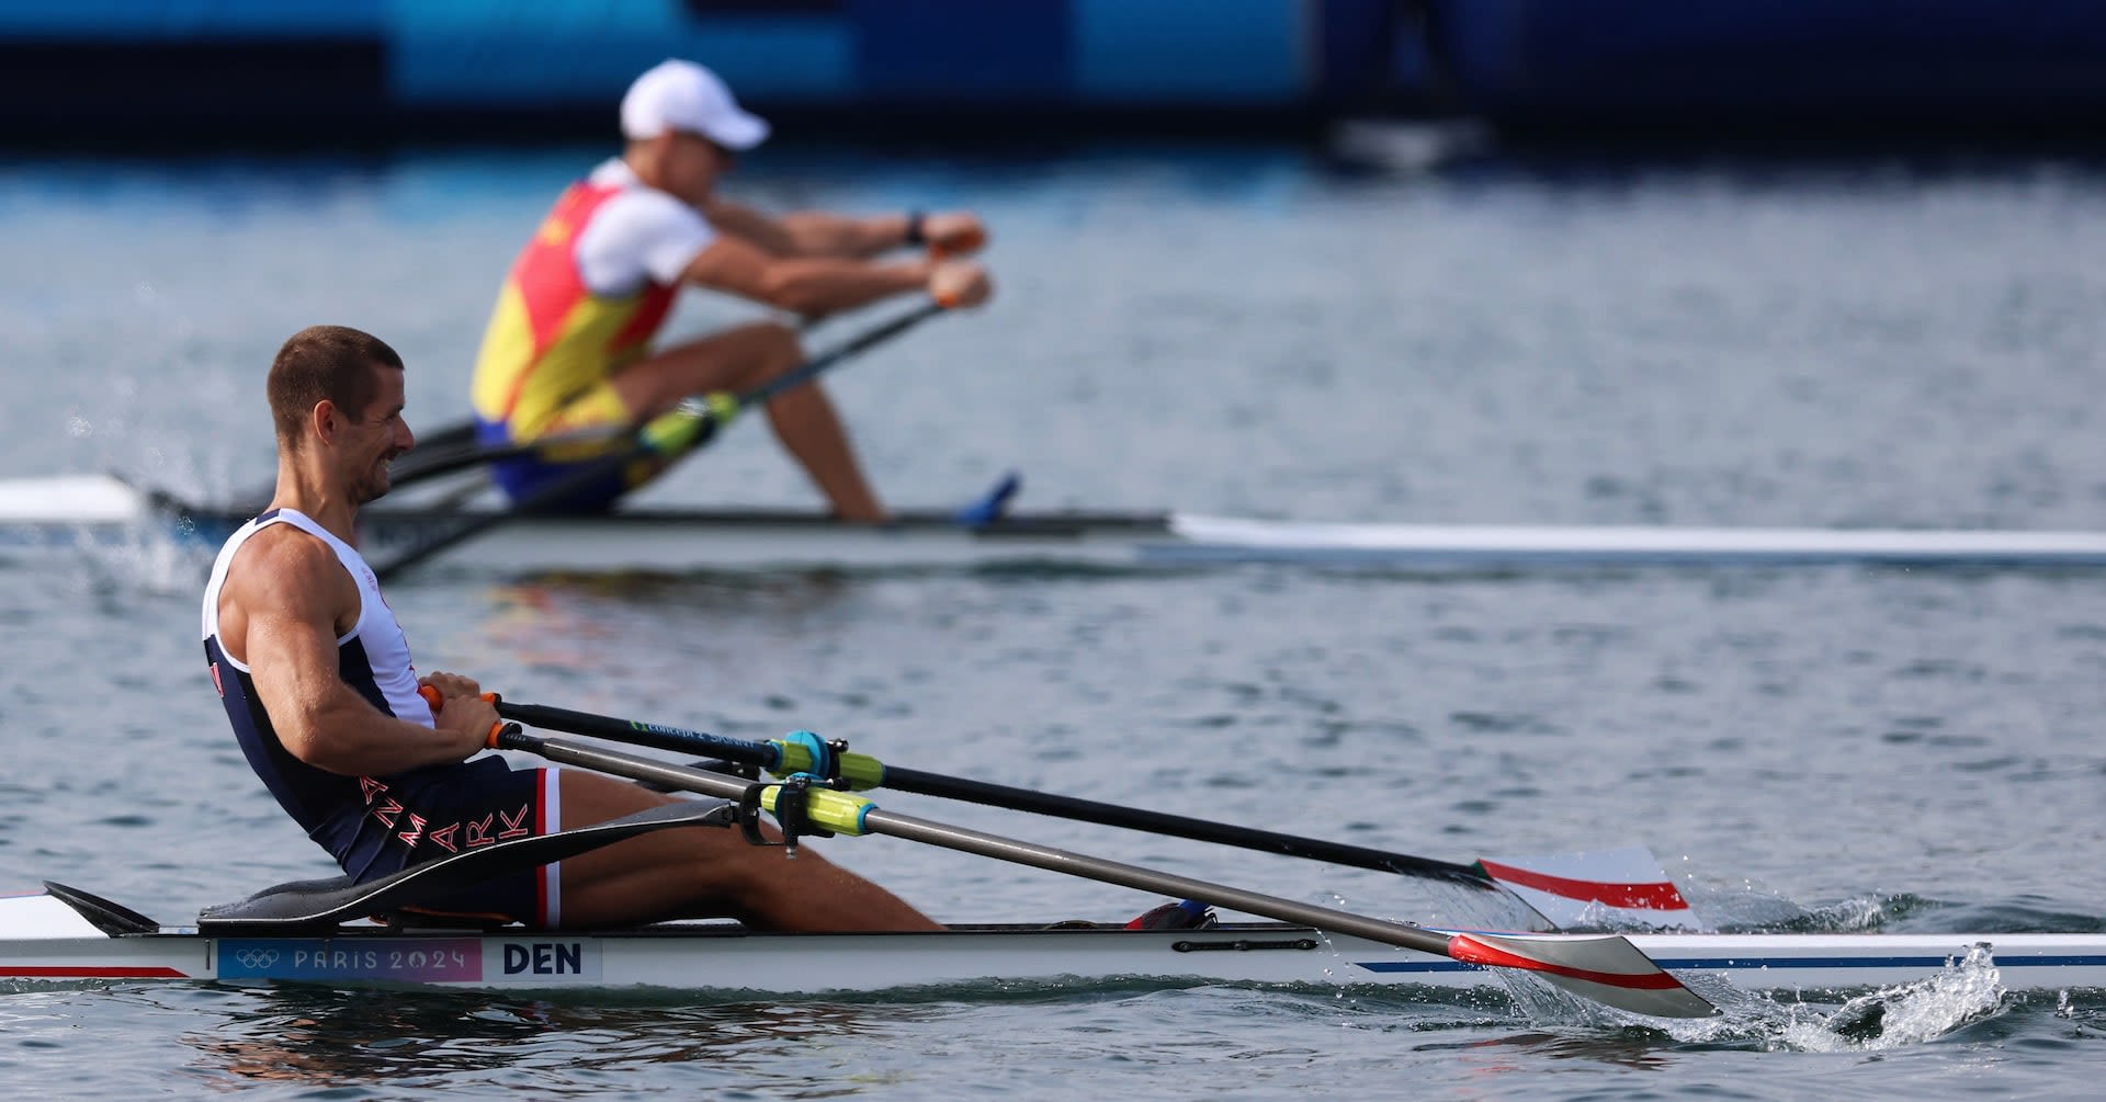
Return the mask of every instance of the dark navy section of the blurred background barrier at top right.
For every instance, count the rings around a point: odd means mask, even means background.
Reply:
[[[1434,53],[1508,126],[2095,124],[2095,0],[1451,0]]]

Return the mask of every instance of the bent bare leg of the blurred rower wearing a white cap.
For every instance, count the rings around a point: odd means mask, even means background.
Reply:
[[[796,333],[775,322],[741,324],[642,358],[613,377],[615,394],[644,421],[676,407],[680,398],[712,390],[752,390],[804,360]],[[775,438],[819,487],[834,516],[878,523],[885,508],[855,461],[849,434],[834,405],[817,383],[804,383],[769,400]]]

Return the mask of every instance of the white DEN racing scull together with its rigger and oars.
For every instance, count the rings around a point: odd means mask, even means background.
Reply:
[[[541,706],[503,706],[533,712]],[[581,714],[577,714],[581,716]],[[613,723],[611,716],[581,716]],[[571,721],[564,721],[571,723]],[[588,723],[575,723],[588,727]],[[638,725],[649,727],[649,725]],[[676,801],[621,820],[554,834],[514,839],[415,864],[396,874],[352,883],[299,881],[238,904],[208,908],[192,927],[164,927],[120,904],[46,883],[42,893],[0,898],[0,980],[310,980],[331,984],[438,984],[516,988],[695,988],[758,992],[887,990],[1002,982],[1240,982],[1240,984],[1415,984],[1491,988],[1531,976],[1584,999],[1660,1018],[1718,1014],[1725,982],[1742,990],[1841,990],[1942,976],[1950,967],[1996,967],[2005,988],[2106,986],[2106,936],[2060,933],[1510,933],[1455,931],[1398,923],[1266,896],[1173,872],[1032,845],[876,807],[845,788],[899,780],[906,788],[952,788],[956,799],[998,794],[998,786],[948,784],[887,767],[815,735],[741,744],[672,731],[682,744],[714,740],[788,782],[695,769],[588,744],[545,740],[516,723],[491,733],[501,750],[598,769],[644,784],[689,790],[710,801]],[[796,759],[796,761],[792,761]],[[823,759],[823,761],[821,761]],[[1101,818],[1104,805],[1042,796],[1032,811]],[[1066,805],[1066,807],[1055,807]],[[455,931],[379,927],[373,914],[417,914],[434,891],[569,860],[600,845],[676,826],[737,826],[760,843],[760,813],[781,837],[889,834],[1101,883],[1207,900],[1226,910],[1270,919],[1196,929],[965,927],[929,933],[756,933],[724,923],[665,923],[617,931]],[[1131,809],[1129,809],[1131,811]],[[1139,826],[1139,822],[1131,822]],[[1165,818],[1184,834],[1289,855],[1320,858],[1325,845],[1226,824]],[[1400,872],[1441,872],[1441,862],[1360,853]],[[1502,862],[1485,874],[1512,870]],[[1453,872],[1453,870],[1449,870]],[[1525,870],[1521,870],[1525,872]],[[1609,887],[1609,885],[1601,885]],[[411,919],[415,921],[415,919]]]

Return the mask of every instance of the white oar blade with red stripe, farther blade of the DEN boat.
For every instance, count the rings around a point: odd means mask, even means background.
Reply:
[[[1565,927],[1706,929],[1651,849],[1478,858],[1499,887]]]

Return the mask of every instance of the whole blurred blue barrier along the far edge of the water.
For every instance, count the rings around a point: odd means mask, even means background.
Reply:
[[[11,0],[0,139],[604,133],[663,57],[851,133],[1358,114],[1508,129],[2093,126],[2087,0]]]

